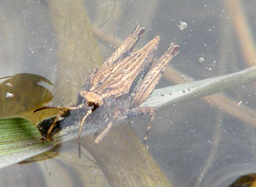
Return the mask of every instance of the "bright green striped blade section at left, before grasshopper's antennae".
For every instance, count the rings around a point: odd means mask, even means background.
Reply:
[[[23,118],[0,120],[0,168],[38,155],[53,147],[42,143],[37,128]]]

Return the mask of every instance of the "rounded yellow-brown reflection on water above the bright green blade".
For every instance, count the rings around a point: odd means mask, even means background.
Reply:
[[[24,111],[31,113],[53,99],[47,89],[53,84],[40,75],[19,73],[0,80],[0,118],[18,116]],[[44,86],[40,85],[42,82]]]

